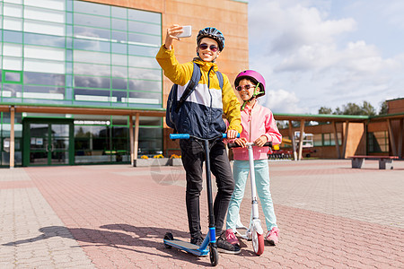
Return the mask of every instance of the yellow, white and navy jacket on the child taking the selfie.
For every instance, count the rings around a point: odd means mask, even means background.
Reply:
[[[193,62],[200,67],[201,78],[198,86],[180,110],[182,129],[201,138],[214,137],[226,131],[222,117],[224,114],[229,122],[229,129],[242,132],[239,100],[225,74],[223,74],[223,91],[220,89],[219,80],[215,75],[218,71],[215,63],[194,58],[192,62],[180,64],[174,56],[174,49],[169,50],[164,46],[160,48],[156,59],[162,66],[165,76],[178,84],[178,100],[192,76]]]

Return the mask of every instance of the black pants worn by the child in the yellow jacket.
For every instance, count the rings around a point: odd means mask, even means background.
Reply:
[[[202,172],[205,161],[203,142],[193,139],[180,140],[181,159],[187,178],[187,213],[191,238],[201,235],[199,196],[202,190]],[[210,143],[210,168],[216,179],[217,194],[215,196],[214,213],[216,234],[222,232],[224,218],[229,207],[230,197],[234,190],[234,178],[225,145],[222,141]]]

